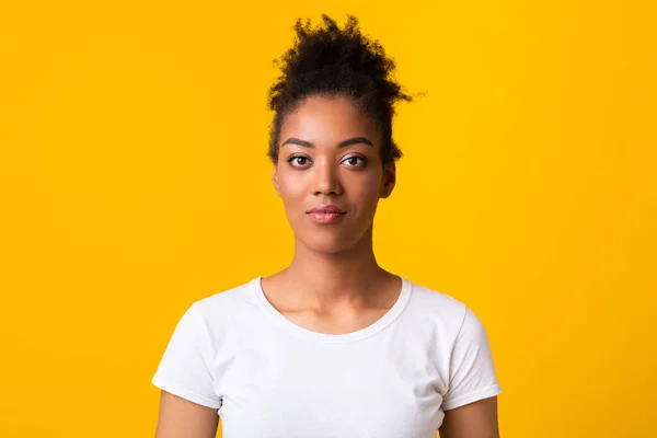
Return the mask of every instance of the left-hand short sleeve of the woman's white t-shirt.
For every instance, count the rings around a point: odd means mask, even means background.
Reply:
[[[151,382],[191,402],[219,408],[212,376],[214,348],[203,314],[193,303],[178,321]]]

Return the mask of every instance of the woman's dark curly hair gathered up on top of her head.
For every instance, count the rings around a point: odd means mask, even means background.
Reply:
[[[354,15],[347,15],[343,28],[326,14],[314,28],[310,19],[304,24],[297,19],[293,28],[293,46],[274,61],[281,74],[268,94],[268,107],[275,112],[268,153],[272,161],[278,161],[284,117],[306,97],[321,94],[354,99],[381,129],[382,161],[400,159],[402,152],[392,140],[394,105],[412,97],[392,79],[395,64],[379,42],[360,32]]]

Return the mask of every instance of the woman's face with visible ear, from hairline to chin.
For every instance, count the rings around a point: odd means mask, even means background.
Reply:
[[[395,166],[382,164],[370,117],[347,97],[311,96],[284,119],[278,148],[272,182],[298,241],[338,253],[371,240]]]

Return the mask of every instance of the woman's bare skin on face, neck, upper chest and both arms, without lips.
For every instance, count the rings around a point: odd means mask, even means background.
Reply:
[[[302,327],[354,332],[399,298],[400,278],[378,265],[372,247],[379,200],[396,182],[394,163],[383,164],[380,150],[376,124],[347,97],[310,96],[285,118],[272,183],[295,233],[295,256],[261,285],[272,306]],[[318,223],[308,211],[319,204],[346,214]],[[162,392],[157,438],[214,438],[217,424],[216,410]],[[497,397],[446,411],[440,436],[498,438]]]

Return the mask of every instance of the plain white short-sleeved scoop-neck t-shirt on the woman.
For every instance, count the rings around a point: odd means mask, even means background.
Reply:
[[[337,335],[285,318],[261,277],[204,298],[152,383],[217,408],[224,438],[435,438],[443,411],[502,390],[477,316],[401,279],[381,319]]]

